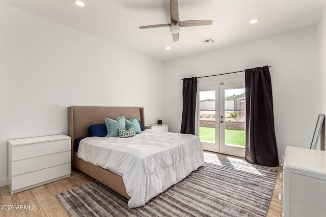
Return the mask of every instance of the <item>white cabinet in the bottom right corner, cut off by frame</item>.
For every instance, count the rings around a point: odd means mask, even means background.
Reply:
[[[283,172],[283,216],[325,216],[326,151],[288,146]]]

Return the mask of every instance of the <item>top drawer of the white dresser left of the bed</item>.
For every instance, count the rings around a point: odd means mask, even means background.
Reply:
[[[12,161],[69,151],[70,146],[70,139],[13,146]]]

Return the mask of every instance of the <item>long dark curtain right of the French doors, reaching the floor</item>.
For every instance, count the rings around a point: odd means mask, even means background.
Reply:
[[[246,154],[251,164],[278,166],[273,97],[268,66],[245,70]]]

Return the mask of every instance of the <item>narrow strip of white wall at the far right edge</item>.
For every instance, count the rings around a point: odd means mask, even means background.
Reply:
[[[326,114],[326,6],[318,23],[318,57],[319,57],[319,75],[318,75],[318,113]],[[323,129],[324,136],[326,134]],[[325,138],[321,137],[321,149],[325,150]]]

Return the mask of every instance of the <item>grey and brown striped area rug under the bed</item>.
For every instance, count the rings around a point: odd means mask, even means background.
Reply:
[[[205,153],[204,167],[139,208],[98,181],[55,197],[71,216],[265,216],[276,175],[276,169]]]

